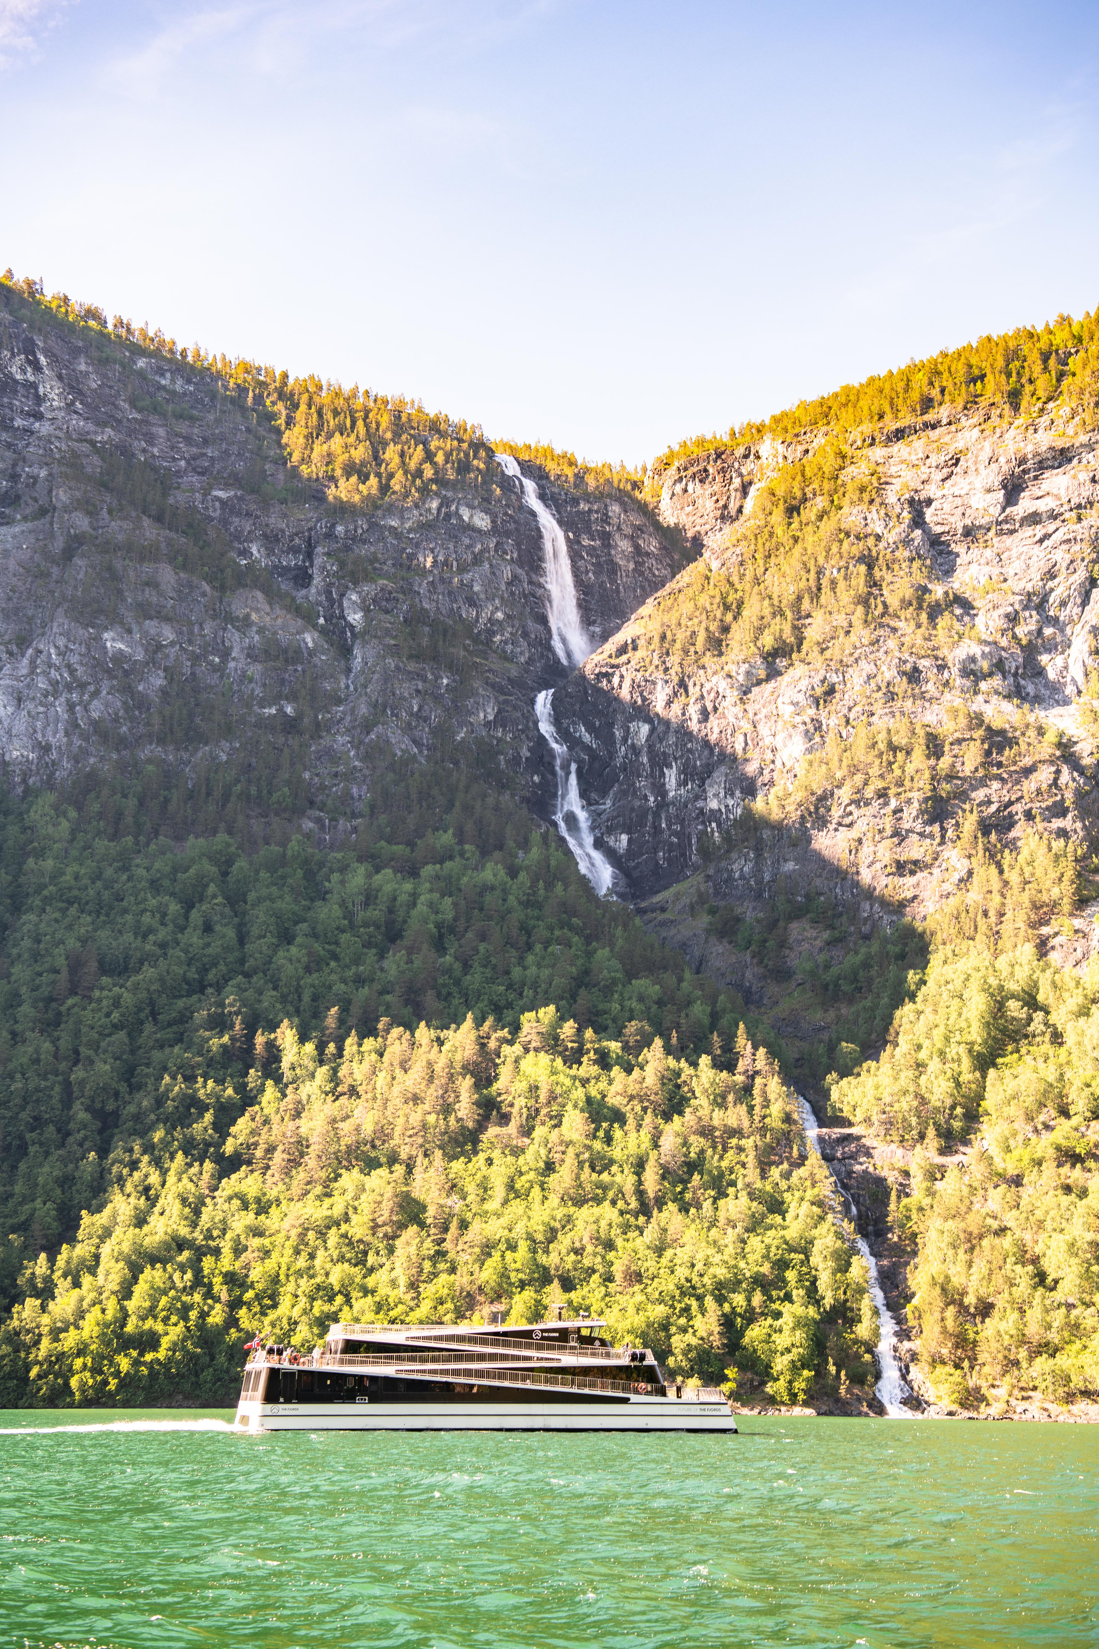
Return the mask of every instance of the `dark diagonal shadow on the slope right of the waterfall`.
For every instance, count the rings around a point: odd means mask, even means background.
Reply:
[[[570,676],[554,694],[596,844],[644,925],[695,973],[735,988],[783,1042],[794,1080],[825,1118],[840,1044],[880,1050],[923,968],[906,907],[862,874],[844,833],[768,818],[735,759],[682,722]],[[539,740],[535,811],[557,806]]]

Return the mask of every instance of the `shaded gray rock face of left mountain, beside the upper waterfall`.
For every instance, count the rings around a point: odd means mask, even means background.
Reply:
[[[3,302],[10,780],[155,754],[193,768],[247,752],[257,729],[293,737],[306,711],[320,711],[316,801],[336,787],[361,800],[372,750],[423,755],[443,732],[486,735],[511,765],[529,759],[532,698],[560,666],[537,523],[503,473],[488,491],[336,510],[293,483],[265,414],[221,394],[211,373],[87,328],[28,325],[25,305]],[[130,467],[122,486],[112,457]],[[152,505],[150,486],[161,488]],[[611,635],[682,556],[626,496],[547,493],[585,622]],[[221,589],[219,556],[239,569]]]

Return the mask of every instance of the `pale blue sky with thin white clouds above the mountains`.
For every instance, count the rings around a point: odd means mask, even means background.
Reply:
[[[639,463],[1099,302],[1099,7],[0,0],[0,267]]]

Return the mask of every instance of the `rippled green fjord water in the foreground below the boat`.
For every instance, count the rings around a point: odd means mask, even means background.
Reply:
[[[0,1412],[0,1646],[1099,1644],[1097,1428],[222,1418]]]

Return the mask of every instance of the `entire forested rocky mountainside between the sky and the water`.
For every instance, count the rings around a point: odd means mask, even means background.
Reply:
[[[1083,1413],[1097,331],[633,473],[8,272],[7,1400],[567,1298],[870,1412],[793,1085],[918,1397]]]

